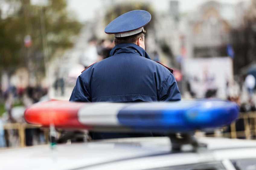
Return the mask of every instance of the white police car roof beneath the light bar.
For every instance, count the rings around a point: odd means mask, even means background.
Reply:
[[[200,152],[171,153],[167,137],[126,138],[0,150],[1,169],[149,169],[226,159],[256,158],[256,142],[200,138]],[[118,167],[118,168],[117,168]]]

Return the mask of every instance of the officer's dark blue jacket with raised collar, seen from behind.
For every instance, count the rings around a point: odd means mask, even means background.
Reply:
[[[110,57],[78,77],[70,101],[177,101],[181,95],[173,74],[151,60],[136,44],[119,44]]]

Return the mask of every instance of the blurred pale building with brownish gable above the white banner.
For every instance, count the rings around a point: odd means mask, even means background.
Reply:
[[[238,27],[246,10],[246,2],[236,5],[209,1],[187,15],[190,57],[227,56],[232,28]]]

